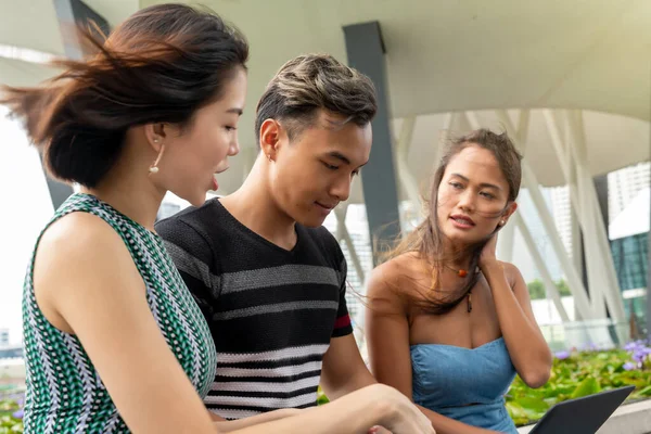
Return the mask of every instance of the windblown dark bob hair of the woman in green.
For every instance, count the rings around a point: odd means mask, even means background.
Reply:
[[[130,127],[189,124],[248,58],[234,27],[182,4],[143,9],[103,43],[80,31],[95,54],[54,62],[64,72],[41,87],[4,87],[0,103],[24,120],[50,175],[89,188],[114,166]]]

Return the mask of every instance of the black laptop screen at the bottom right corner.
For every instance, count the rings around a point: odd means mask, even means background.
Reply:
[[[559,403],[529,434],[595,434],[634,390],[620,387]]]

